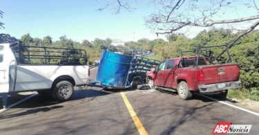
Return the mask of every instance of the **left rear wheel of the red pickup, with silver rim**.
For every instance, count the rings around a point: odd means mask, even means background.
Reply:
[[[178,84],[178,96],[182,100],[189,100],[193,96],[193,93],[191,93],[191,91],[189,91],[188,84],[184,81],[182,81]]]

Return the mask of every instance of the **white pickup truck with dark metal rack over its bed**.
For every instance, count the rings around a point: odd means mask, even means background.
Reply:
[[[15,44],[0,44],[0,93],[38,91],[65,101],[88,84],[86,51]]]

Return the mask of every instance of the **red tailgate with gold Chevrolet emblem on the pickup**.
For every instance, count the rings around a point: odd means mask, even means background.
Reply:
[[[202,66],[203,84],[236,81],[240,75],[238,64],[218,64]]]

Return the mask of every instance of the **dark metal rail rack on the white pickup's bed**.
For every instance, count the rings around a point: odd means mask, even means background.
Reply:
[[[79,65],[87,63],[86,51],[75,48],[11,44],[17,64]]]

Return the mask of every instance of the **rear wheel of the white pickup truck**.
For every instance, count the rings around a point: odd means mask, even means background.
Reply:
[[[71,82],[66,80],[58,82],[52,89],[52,97],[58,101],[69,100],[73,96],[74,87]]]

